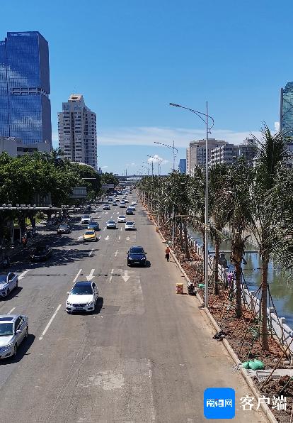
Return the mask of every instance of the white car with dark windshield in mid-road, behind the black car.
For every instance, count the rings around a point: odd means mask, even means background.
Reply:
[[[98,300],[98,287],[91,280],[76,282],[70,292],[67,292],[67,313],[93,312]]]

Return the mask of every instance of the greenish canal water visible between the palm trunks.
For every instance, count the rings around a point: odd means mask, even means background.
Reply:
[[[188,229],[190,236],[202,246],[202,235],[193,229]],[[246,243],[246,250],[257,250],[251,243]],[[209,241],[209,251],[214,251],[214,245]],[[222,241],[220,251],[231,251],[231,242],[229,238]],[[230,253],[225,253],[229,268],[233,270],[234,266],[230,262]],[[258,290],[261,282],[261,260],[258,253],[246,253],[244,256],[246,264],[242,264],[243,275],[248,288],[252,291]],[[272,263],[268,269],[268,282],[270,292],[277,309],[279,317],[286,318],[286,324],[293,329],[293,281],[289,275],[283,275],[280,270],[274,268]],[[272,305],[271,305],[272,307]]]

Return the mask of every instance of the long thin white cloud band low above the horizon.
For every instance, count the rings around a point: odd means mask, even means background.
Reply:
[[[259,137],[259,131],[231,131],[229,129],[217,129],[212,131],[210,138],[225,140],[229,143],[240,144],[251,132]],[[154,141],[171,145],[175,140],[175,146],[186,148],[190,141],[205,138],[205,129],[168,128],[156,126],[124,127],[114,130],[102,130],[98,136],[100,145],[154,145]],[[156,145],[158,148],[165,148]]]

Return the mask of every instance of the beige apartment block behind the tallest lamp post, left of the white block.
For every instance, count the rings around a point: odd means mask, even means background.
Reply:
[[[226,145],[223,140],[209,138],[207,145],[207,160],[211,160],[211,151],[219,145]],[[195,167],[205,167],[205,140],[192,141],[186,150],[186,173],[193,175]]]

